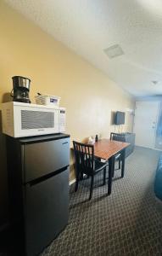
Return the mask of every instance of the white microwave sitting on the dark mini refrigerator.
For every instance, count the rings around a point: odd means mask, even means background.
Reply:
[[[65,108],[22,102],[2,104],[3,133],[31,137],[65,131]]]

